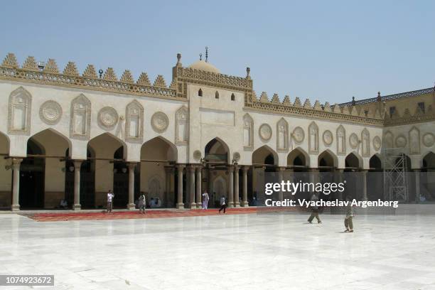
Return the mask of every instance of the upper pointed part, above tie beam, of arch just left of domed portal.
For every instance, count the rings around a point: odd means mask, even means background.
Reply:
[[[141,159],[177,161],[177,146],[163,136],[156,136],[142,144]]]

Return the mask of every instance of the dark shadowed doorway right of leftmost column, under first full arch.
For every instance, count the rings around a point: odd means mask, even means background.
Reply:
[[[21,161],[19,204],[21,209],[44,207],[45,155],[41,144],[30,138],[27,141],[27,157]]]

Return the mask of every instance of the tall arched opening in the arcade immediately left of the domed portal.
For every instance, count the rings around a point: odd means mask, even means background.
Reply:
[[[148,201],[154,198],[159,200],[161,207],[175,208],[178,189],[176,160],[177,148],[170,141],[161,136],[146,141],[141,147],[141,164],[135,168],[138,174],[134,178],[135,183],[138,181],[134,186],[135,200],[142,191]]]

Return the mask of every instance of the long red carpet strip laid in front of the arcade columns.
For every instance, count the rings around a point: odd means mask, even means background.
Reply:
[[[249,213],[273,213],[283,209],[281,208],[227,208],[225,215],[240,215]],[[288,210],[288,209],[287,209]],[[80,212],[80,213],[33,213],[24,214],[38,222],[57,222],[67,220],[122,220],[137,218],[179,218],[179,217],[198,217],[203,215],[223,215],[218,213],[218,209],[209,210],[146,210],[145,214],[135,211],[114,211],[113,213],[102,212]]]

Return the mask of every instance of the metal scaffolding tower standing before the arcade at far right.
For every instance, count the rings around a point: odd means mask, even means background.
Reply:
[[[382,149],[385,200],[408,201],[406,153],[404,148]]]

